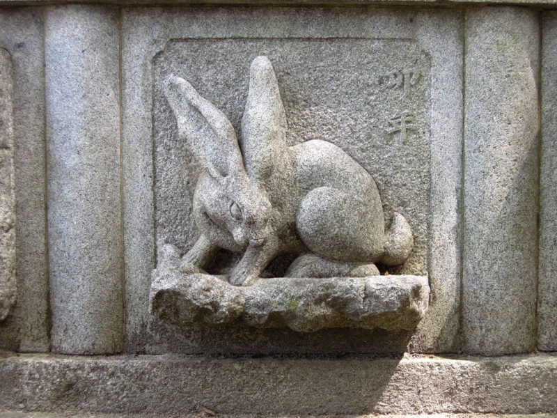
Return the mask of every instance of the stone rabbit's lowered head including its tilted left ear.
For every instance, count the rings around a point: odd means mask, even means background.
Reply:
[[[204,169],[194,193],[194,219],[214,245],[243,251],[269,235],[271,203],[250,180],[228,118],[180,77],[166,80],[166,98],[187,142]]]

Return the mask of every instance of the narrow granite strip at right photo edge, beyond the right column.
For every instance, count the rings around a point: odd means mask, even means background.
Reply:
[[[557,13],[544,13],[538,349],[557,350]]]

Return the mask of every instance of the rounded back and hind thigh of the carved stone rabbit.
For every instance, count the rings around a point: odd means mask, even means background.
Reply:
[[[296,227],[304,245],[329,260],[379,261],[385,221],[372,176],[326,141],[307,141],[292,150],[301,192]]]

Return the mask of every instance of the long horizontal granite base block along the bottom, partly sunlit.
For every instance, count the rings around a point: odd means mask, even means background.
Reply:
[[[0,353],[0,410],[557,414],[557,355],[238,358]]]

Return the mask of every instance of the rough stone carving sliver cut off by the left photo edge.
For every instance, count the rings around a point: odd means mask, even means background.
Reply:
[[[10,313],[17,293],[12,100],[12,59],[0,48],[0,321]]]

